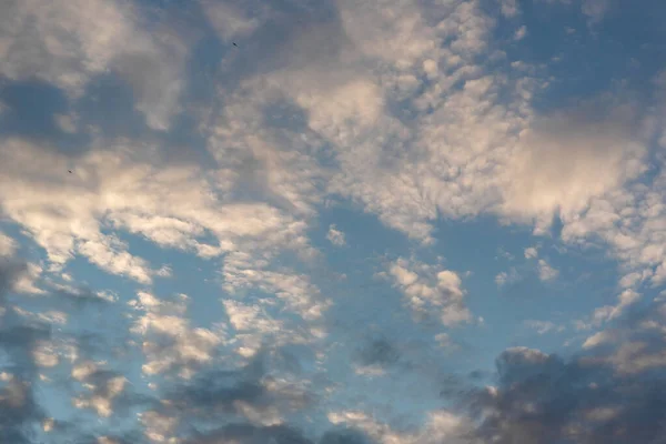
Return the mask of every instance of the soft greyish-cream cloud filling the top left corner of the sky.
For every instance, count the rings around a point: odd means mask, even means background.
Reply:
[[[132,85],[148,125],[164,130],[183,87],[185,48],[163,29],[145,32],[140,16],[113,0],[4,2],[0,74],[37,77],[79,97],[91,79],[112,70]]]

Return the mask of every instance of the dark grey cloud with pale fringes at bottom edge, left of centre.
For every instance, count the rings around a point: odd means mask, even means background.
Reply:
[[[160,442],[158,435],[169,436],[176,427],[208,423],[212,426],[208,427],[211,432],[194,434],[184,442],[214,443],[236,438],[241,442],[259,440],[260,443],[265,442],[262,437],[279,438],[281,430],[293,430],[284,418],[312,407],[315,402],[305,381],[290,377],[289,372],[273,375],[273,364],[284,357],[279,349],[266,349],[241,366],[210,369],[176,384],[164,393],[157,411],[142,415],[142,421],[149,423],[148,433],[155,434],[154,441]],[[220,417],[224,420],[220,421]],[[279,434],[273,435],[272,431]],[[236,435],[236,432],[241,434]],[[289,436],[294,440],[302,436],[300,432],[293,432]],[[309,440],[303,442],[310,443]]]

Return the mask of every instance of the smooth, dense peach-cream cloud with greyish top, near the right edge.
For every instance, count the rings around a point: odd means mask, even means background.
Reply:
[[[589,112],[559,112],[521,134],[507,170],[512,180],[504,192],[504,212],[549,221],[557,210],[568,221],[592,199],[645,171],[646,150],[625,128],[632,110],[612,110],[601,121],[591,121]],[[591,165],[599,161],[604,173],[591,173]]]

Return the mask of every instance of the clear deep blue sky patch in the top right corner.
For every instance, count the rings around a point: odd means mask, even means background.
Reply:
[[[652,80],[663,69],[664,30],[655,10],[664,4],[645,3],[622,12],[610,8],[604,20],[591,23],[573,4],[525,1],[518,17],[501,20],[496,33],[507,40],[502,49],[508,59],[547,68],[548,87],[535,95],[534,109],[561,110],[599,93],[623,99],[632,91],[649,100]],[[518,27],[525,27],[525,36],[508,43]]]

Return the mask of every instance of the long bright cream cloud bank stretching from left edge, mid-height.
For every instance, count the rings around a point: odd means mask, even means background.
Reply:
[[[215,176],[202,178],[192,167],[141,162],[127,147],[115,145],[80,158],[72,176],[64,157],[28,142],[4,141],[0,150],[6,160],[0,208],[54,264],[79,253],[110,273],[149,283],[155,271],[117,236],[102,234],[108,222],[204,255],[210,253],[196,239],[204,230],[218,238],[218,245],[208,245],[212,255],[238,249],[261,255],[276,246],[312,253],[306,223],[265,203],[220,201]]]

